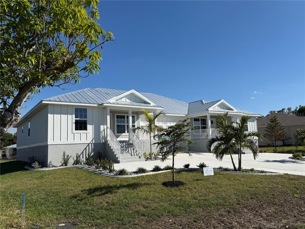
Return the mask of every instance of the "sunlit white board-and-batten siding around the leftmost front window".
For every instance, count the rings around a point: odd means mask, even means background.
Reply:
[[[74,108],[87,108],[87,131],[74,129]],[[105,112],[103,107],[48,105],[48,144],[103,142]]]

